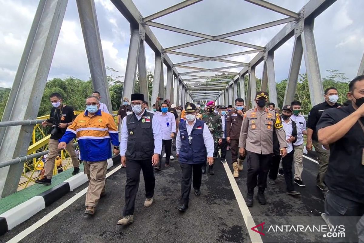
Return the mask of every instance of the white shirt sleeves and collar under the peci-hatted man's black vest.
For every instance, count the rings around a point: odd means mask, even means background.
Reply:
[[[140,120],[144,115],[144,109],[141,115],[135,114],[135,116]],[[152,130],[154,136],[154,153],[161,154],[162,152],[162,135],[161,135],[161,126],[158,124],[158,119],[153,116],[152,119]],[[121,138],[120,138],[120,156],[125,156],[127,145],[128,145],[128,128],[126,125],[126,117],[123,118],[122,128],[121,128]]]

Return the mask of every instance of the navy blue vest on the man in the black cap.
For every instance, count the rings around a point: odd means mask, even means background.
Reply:
[[[206,162],[207,152],[203,140],[203,127],[205,122],[196,119],[191,131],[192,143],[188,139],[186,122],[179,123],[179,136],[181,137],[181,149],[178,160],[181,164],[201,164]]]

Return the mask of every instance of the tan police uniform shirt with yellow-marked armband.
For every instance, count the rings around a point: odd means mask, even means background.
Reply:
[[[287,148],[286,133],[278,113],[268,108],[258,111],[257,107],[246,111],[239,148],[257,154],[273,153],[273,130],[276,130],[280,148]]]

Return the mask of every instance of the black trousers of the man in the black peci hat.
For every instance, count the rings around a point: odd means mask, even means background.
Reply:
[[[124,216],[134,214],[135,197],[137,196],[140,170],[143,171],[145,183],[145,197],[152,198],[154,196],[154,170],[152,166],[152,158],[146,160],[129,160],[126,161],[126,185],[125,185],[125,207]]]

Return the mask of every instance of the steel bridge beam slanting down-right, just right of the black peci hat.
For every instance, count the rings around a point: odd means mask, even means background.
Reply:
[[[148,77],[147,77],[147,64],[145,59],[145,46],[144,46],[144,40],[142,39],[140,39],[140,44],[139,44],[138,72],[139,72],[140,93],[144,94],[144,99],[150,102]]]

